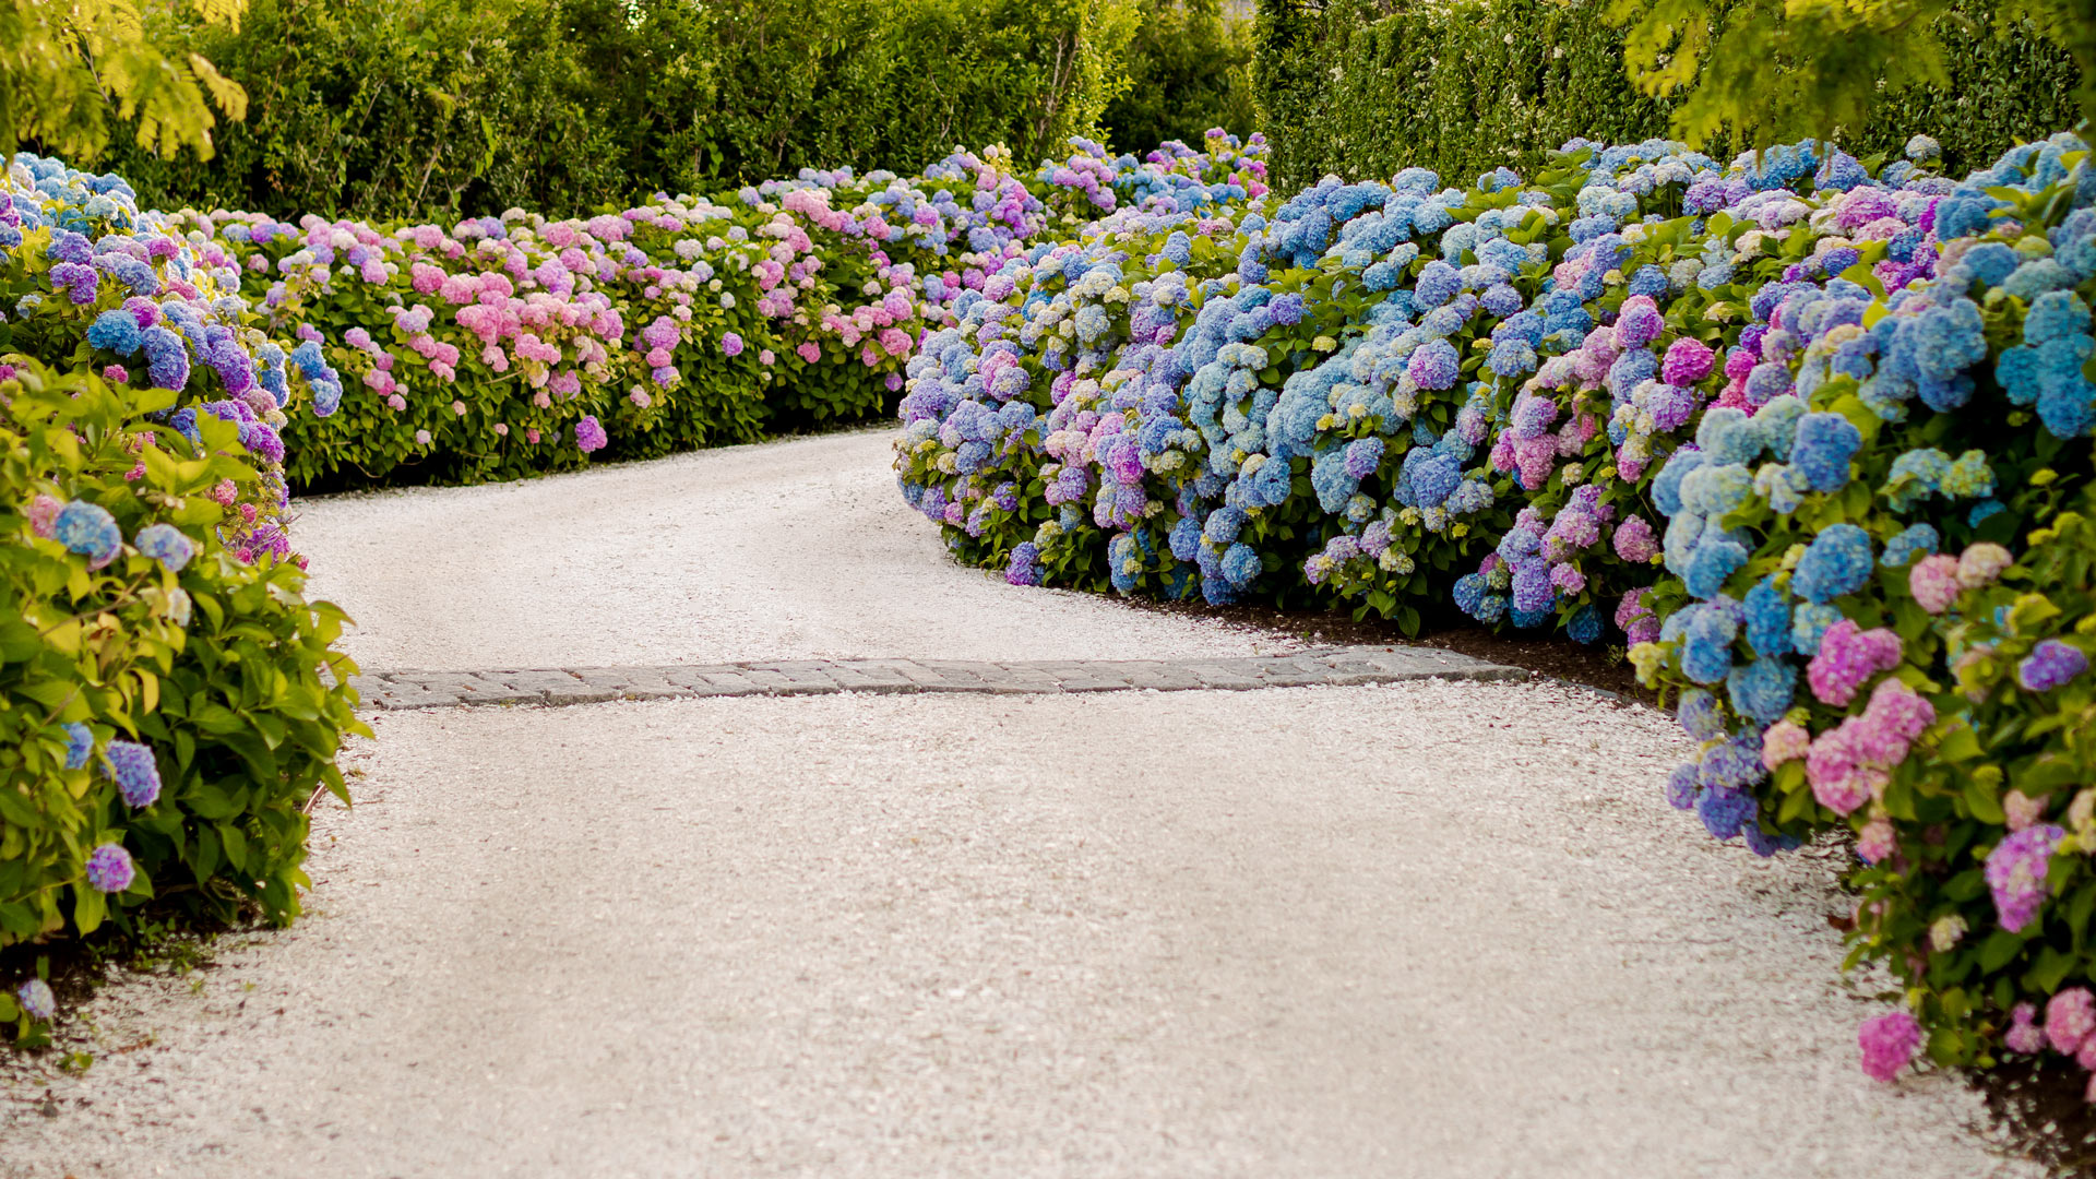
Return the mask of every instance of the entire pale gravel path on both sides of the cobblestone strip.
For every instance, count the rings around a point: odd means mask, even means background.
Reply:
[[[1836,852],[1702,837],[1650,709],[1008,587],[880,434],[300,527],[361,806],[0,1074],[0,1177],[2027,1173],[1863,1078]]]

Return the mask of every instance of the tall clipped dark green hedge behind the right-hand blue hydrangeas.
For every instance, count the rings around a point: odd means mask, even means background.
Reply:
[[[1668,103],[1631,86],[1622,31],[1603,10],[1599,0],[1260,0],[1253,92],[1274,189],[1409,166],[1444,178],[1503,164],[1532,172],[1574,136],[1664,136]],[[1960,21],[1939,27],[1951,84],[1897,94],[1842,147],[1870,155],[1930,134],[1945,170],[1962,174],[2079,122],[2065,50],[1995,29],[1985,0],[1962,4]]]

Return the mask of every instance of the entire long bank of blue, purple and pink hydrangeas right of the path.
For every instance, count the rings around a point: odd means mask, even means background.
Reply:
[[[901,491],[1014,583],[1614,634],[1704,743],[1675,806],[1853,835],[1851,963],[1907,984],[1865,1068],[2096,1066],[2096,183],[1937,155],[1113,210],[924,340]]]

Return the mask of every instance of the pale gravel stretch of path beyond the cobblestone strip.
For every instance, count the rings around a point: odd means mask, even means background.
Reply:
[[[947,560],[891,430],[493,487],[300,499],[312,592],[369,669],[742,659],[1174,659],[1287,640]]]

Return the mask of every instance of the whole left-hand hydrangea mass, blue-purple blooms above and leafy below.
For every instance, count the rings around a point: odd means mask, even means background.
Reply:
[[[201,235],[113,176],[0,183],[0,948],[159,894],[298,913],[306,818],[356,728],[289,550],[285,434],[342,388]],[[323,665],[331,669],[323,678]],[[54,1007],[0,999],[17,1038]]]

